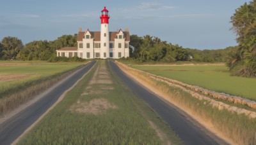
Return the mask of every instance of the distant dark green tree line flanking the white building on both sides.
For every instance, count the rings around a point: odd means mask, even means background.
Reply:
[[[33,41],[25,46],[22,41],[15,37],[3,38],[0,43],[1,60],[52,60],[56,59],[56,50],[77,46],[77,34],[63,35],[54,41]],[[182,48],[179,45],[172,45],[167,41],[153,36],[139,37],[131,35],[130,45],[134,46],[130,57],[140,62],[175,62],[175,61],[196,61],[196,62],[225,62],[227,53],[233,47],[224,50],[196,50]],[[56,60],[64,60],[58,58]]]

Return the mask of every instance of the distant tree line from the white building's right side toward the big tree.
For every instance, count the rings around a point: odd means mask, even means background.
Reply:
[[[219,50],[182,48],[182,46],[172,45],[172,43],[149,35],[143,37],[131,35],[130,45],[135,48],[134,52],[130,53],[130,57],[140,62],[226,62],[228,53],[235,48],[228,47]]]

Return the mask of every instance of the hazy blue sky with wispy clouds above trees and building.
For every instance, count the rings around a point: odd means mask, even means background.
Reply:
[[[235,46],[229,29],[241,0],[0,0],[0,40],[17,37],[24,44],[52,41],[75,34],[79,27],[100,31],[100,11],[109,10],[109,31],[129,28],[131,34],[156,36],[184,48],[218,49]]]

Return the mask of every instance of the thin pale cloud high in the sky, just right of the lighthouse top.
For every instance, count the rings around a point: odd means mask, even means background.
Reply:
[[[124,11],[157,11],[157,10],[166,10],[174,8],[173,6],[163,6],[157,2],[148,2],[148,3],[141,3],[139,6],[135,8],[125,9]]]

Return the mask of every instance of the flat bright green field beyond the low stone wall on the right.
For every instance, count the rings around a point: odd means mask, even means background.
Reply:
[[[135,69],[175,79],[190,85],[201,86],[216,92],[237,95],[256,100],[256,79],[230,76],[224,65],[188,66],[143,66],[131,65]]]

